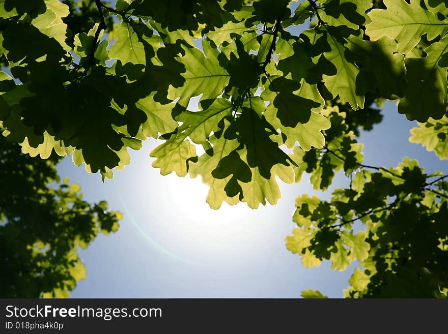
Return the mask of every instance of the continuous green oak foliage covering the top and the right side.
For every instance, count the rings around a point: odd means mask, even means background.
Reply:
[[[201,175],[212,208],[275,204],[276,177],[295,183],[304,171],[325,190],[343,170],[350,187],[330,202],[297,198],[288,249],[306,266],[360,261],[365,270],[355,270],[347,296],[446,295],[445,175],[407,159],[396,168],[362,165],[356,140],[359,128],[381,120],[373,103],[396,100],[398,112],[420,122],[410,140],[448,157],[445,1],[111,6],[0,1],[7,140],[32,157],[72,154],[104,179],[129,163],[128,148],[158,138],[153,166]],[[311,27],[294,34],[307,20]],[[195,97],[199,111],[189,110]],[[356,224],[365,230],[355,233]]]

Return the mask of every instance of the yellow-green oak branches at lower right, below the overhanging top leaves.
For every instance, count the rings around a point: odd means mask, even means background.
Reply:
[[[342,147],[321,156],[314,162],[319,167],[309,170],[312,182],[322,174],[325,157],[350,161]],[[357,260],[360,268],[354,269],[346,297],[446,297],[447,175],[426,174],[408,158],[396,168],[366,166],[358,159],[350,162],[354,168],[344,168],[350,185],[335,189],[329,201],[297,197],[298,227],[286,237],[287,248],[305,267],[330,260],[332,269],[345,270]],[[314,186],[322,187],[322,181]],[[302,296],[314,295],[306,290]]]

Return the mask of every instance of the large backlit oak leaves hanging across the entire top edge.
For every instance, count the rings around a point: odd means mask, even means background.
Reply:
[[[159,138],[164,142],[151,156],[162,174],[201,175],[212,208],[224,201],[255,208],[280,197],[276,176],[298,180],[294,170],[305,162],[291,158],[289,148],[323,148],[322,131],[330,127],[325,101],[373,111],[373,101],[399,99],[399,112],[420,122],[445,113],[444,3],[320,0],[293,10],[289,1],[153,6],[121,0],[110,6],[99,0],[0,4],[7,65],[0,122],[24,153],[72,154],[76,165],[104,179],[130,162],[128,148]],[[400,11],[408,15],[397,25],[392,16]],[[289,32],[307,19],[315,22],[310,29]],[[189,110],[193,98],[199,111]],[[422,101],[432,105],[423,108]],[[359,122],[369,130],[381,119],[375,111],[346,117],[353,135]],[[352,139],[344,140],[351,149]],[[324,189],[326,171],[339,165],[324,157],[321,167]]]

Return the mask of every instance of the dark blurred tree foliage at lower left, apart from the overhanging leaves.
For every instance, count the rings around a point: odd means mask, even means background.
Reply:
[[[60,179],[60,157],[20,153],[0,138],[0,296],[68,297],[86,278],[76,252],[99,232],[117,231],[120,212],[82,200],[80,187]]]

